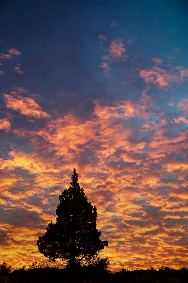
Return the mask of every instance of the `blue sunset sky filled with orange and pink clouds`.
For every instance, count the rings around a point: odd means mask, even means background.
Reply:
[[[187,265],[187,1],[0,4],[0,255],[47,260],[73,168],[100,254],[123,266]]]

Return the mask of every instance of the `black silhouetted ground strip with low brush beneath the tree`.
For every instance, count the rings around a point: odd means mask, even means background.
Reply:
[[[137,283],[137,282],[188,282],[188,272],[176,269],[167,271],[156,270],[136,270],[136,271],[120,271],[109,275],[106,271],[99,267],[79,267],[74,270],[65,268],[53,269],[44,268],[40,270],[31,269],[27,271],[13,271],[8,274],[0,275],[0,283],[26,283],[26,282],[62,282],[62,283]]]

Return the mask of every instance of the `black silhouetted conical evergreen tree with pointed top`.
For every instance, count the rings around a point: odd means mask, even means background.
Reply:
[[[69,188],[59,196],[56,223],[51,221],[48,224],[37,245],[49,260],[60,258],[74,266],[83,261],[89,262],[104,246],[108,246],[108,241],[99,239],[97,208],[88,203],[83,188],[79,186],[75,168],[71,180]]]

